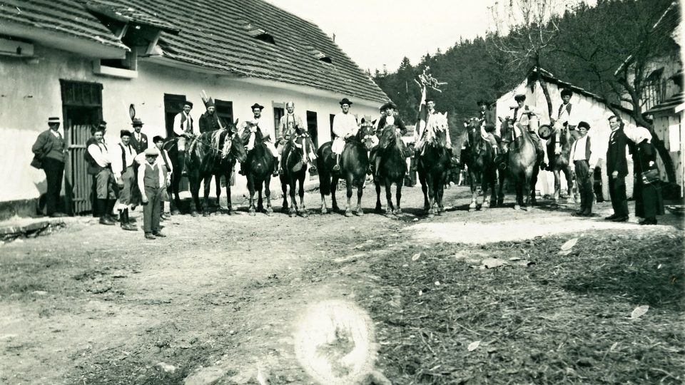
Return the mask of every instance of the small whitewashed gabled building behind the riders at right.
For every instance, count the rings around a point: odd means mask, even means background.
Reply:
[[[604,98],[594,93],[573,86],[571,83],[561,81],[544,70],[542,70],[542,78],[547,83],[549,96],[552,98],[552,113],[558,111],[559,106],[562,104],[562,89],[569,88],[573,91],[573,97],[571,98],[571,103],[574,106],[573,108],[577,109],[576,111],[582,111],[582,118],[580,120],[589,123],[591,128],[588,135],[592,138],[592,147],[599,153],[600,158],[602,158],[599,165],[602,166],[603,193],[605,199],[608,199],[609,180],[607,179],[606,168],[604,168],[604,158],[606,158],[609,133],[611,133],[607,119],[609,116],[614,115],[614,113],[607,108]],[[512,108],[517,106],[514,101],[514,96],[519,93],[526,96],[527,105],[532,106],[539,113],[542,113],[542,116],[539,118],[540,124],[548,124],[550,122],[550,117],[547,113],[547,100],[544,98],[542,87],[537,81],[537,73],[535,73],[534,70],[529,73],[527,79],[522,81],[514,90],[497,99],[497,116],[504,117],[512,115]],[[614,108],[619,111],[621,120],[624,120],[626,123],[635,124],[635,120],[631,118],[631,111],[629,109],[618,105],[614,105]],[[554,116],[554,118],[556,118],[556,116]],[[547,148],[545,148],[545,150],[547,150]],[[545,155],[545,157],[545,162],[547,162],[547,155]],[[628,157],[628,167],[629,170],[631,170],[632,163],[630,157]],[[632,178],[626,178],[626,185],[628,196],[631,196],[633,189]],[[562,190],[565,190],[566,186],[566,180],[562,175]],[[540,171],[535,188],[541,195],[552,195],[554,193],[554,175],[552,172]]]

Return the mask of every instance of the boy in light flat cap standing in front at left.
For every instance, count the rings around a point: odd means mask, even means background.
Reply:
[[[148,240],[163,235],[159,226],[161,199],[166,180],[162,165],[157,162],[159,151],[157,148],[145,150],[145,161],[138,166],[138,188],[143,200],[143,231]]]

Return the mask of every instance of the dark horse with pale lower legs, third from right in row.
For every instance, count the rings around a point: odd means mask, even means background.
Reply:
[[[502,205],[504,195],[502,193],[503,184],[499,183],[499,195],[497,191],[497,165],[494,163],[494,150],[489,140],[484,139],[481,134],[482,120],[471,118],[464,123],[467,128],[467,140],[470,151],[468,152],[466,164],[471,185],[471,204],[469,211],[476,210],[478,200],[478,181],[480,190],[483,194],[481,210],[487,210],[490,205]],[[487,200],[487,189],[492,193],[490,200]]]

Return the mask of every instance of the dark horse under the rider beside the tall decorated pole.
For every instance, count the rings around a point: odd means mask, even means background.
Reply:
[[[423,209],[428,217],[441,215],[445,211],[442,195],[445,192],[447,170],[452,166],[447,152],[447,114],[437,114],[434,128],[427,128],[425,143],[417,146],[417,171],[423,191]],[[431,131],[432,130],[432,131]],[[437,210],[435,210],[437,206]]]

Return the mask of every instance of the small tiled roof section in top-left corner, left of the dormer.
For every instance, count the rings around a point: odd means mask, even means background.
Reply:
[[[0,2],[0,23],[3,21],[128,51],[106,26],[75,0],[3,0]]]

